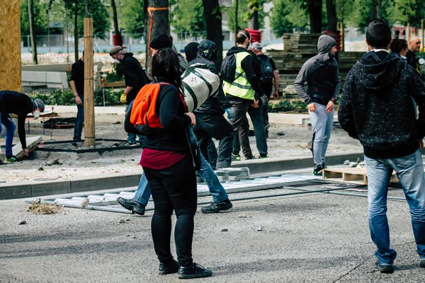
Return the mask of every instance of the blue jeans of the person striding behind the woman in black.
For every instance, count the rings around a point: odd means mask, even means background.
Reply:
[[[193,131],[191,129],[191,138],[195,138],[193,136]],[[214,171],[210,166],[210,163],[205,160],[203,155],[200,153],[200,170],[198,171],[200,178],[204,180],[204,182],[208,185],[208,190],[212,195],[213,202],[222,202],[223,200],[227,200],[229,196],[225,191],[225,188],[221,185],[220,180],[218,180],[217,175],[215,175]],[[137,191],[133,200],[135,202],[139,202],[140,204],[147,205],[149,202],[149,197],[151,195],[149,184],[147,183],[147,178],[145,173],[142,174],[142,178],[140,178],[139,186],[137,187]]]

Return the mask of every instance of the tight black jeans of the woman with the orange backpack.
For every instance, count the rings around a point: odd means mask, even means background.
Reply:
[[[196,213],[197,191],[195,168],[191,156],[163,170],[143,168],[152,198],[152,238],[159,262],[167,264],[173,256],[170,250],[171,214],[176,212],[174,240],[179,265],[192,264],[193,217]]]

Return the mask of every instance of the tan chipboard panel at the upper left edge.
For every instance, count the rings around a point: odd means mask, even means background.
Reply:
[[[0,5],[0,91],[22,91],[20,1],[2,1]]]

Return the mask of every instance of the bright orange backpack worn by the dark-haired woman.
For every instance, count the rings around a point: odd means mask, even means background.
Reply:
[[[148,129],[162,128],[159,115],[155,112],[162,85],[169,83],[149,83],[143,86],[133,101],[130,122],[139,132],[146,133]],[[183,98],[181,100],[184,103]]]

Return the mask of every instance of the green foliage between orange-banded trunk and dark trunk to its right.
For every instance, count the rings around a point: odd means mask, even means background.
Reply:
[[[176,33],[205,31],[202,0],[171,0],[170,25]]]

